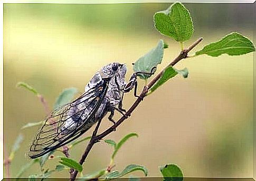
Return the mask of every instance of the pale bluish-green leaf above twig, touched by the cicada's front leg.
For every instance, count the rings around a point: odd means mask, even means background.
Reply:
[[[164,56],[164,41],[160,39],[157,46],[151,51],[149,51],[146,55],[140,57],[134,63],[134,72],[146,72],[151,73],[151,71],[156,67],[158,64],[162,62]],[[138,74],[141,79],[147,79],[151,75],[145,74]]]

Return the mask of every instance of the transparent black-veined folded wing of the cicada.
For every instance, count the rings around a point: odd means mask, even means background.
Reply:
[[[102,81],[73,102],[55,109],[37,133],[30,146],[29,156],[40,157],[82,135],[84,127],[94,124],[94,114],[107,88],[108,82]]]

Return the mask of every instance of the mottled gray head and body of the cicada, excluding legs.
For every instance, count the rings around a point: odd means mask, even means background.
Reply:
[[[87,107],[84,112],[77,116],[71,116],[68,118],[64,125],[62,126],[62,135],[70,133],[76,128],[76,125],[80,125],[84,121],[83,130],[88,130],[94,123],[102,119],[108,112],[113,114],[113,111],[117,108],[117,105],[121,104],[122,90],[124,89],[125,83],[125,74],[127,68],[124,64],[111,63],[100,69],[94,76],[91,78],[90,82],[85,87],[85,93],[87,96],[84,96],[81,99],[78,99],[73,104],[69,110],[69,115],[77,113],[78,110],[82,110],[84,107]],[[97,100],[91,100],[97,96],[97,92],[92,91],[95,87],[102,85],[104,82],[108,82],[108,88],[105,96],[102,97],[100,106],[95,110],[94,115],[91,118],[88,118],[88,115],[93,111],[93,108],[97,104]],[[92,94],[90,94],[90,91]],[[90,104],[90,105],[89,105]],[[74,124],[78,123],[78,124]]]

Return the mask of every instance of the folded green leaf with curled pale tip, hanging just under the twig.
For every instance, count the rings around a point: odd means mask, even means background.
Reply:
[[[163,75],[158,80],[158,82],[150,89],[150,93],[154,92],[158,87],[163,85],[170,78],[175,77],[177,74],[181,74],[184,78],[187,78],[188,76],[187,68],[184,68],[182,70],[177,70],[177,69],[174,69],[173,67],[167,67]]]

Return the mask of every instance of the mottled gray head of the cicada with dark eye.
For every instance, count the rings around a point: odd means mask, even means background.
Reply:
[[[111,78],[117,76],[118,78],[125,79],[127,67],[125,64],[111,63],[100,69],[102,78]]]

